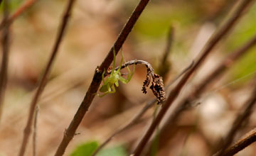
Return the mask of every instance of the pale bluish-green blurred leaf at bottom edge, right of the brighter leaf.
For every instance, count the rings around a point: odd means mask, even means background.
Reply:
[[[127,156],[124,146],[118,145],[116,147],[110,147],[99,152],[97,156]]]

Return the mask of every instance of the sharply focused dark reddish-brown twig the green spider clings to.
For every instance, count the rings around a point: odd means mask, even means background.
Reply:
[[[113,57],[114,57],[113,51],[115,50],[117,55],[120,48],[124,44],[124,41],[126,40],[127,36],[132,31],[134,24],[136,23],[137,19],[141,15],[142,11],[144,11],[148,3],[149,3],[149,0],[139,1],[139,4],[137,5],[136,9],[133,11],[132,16],[130,16],[129,20],[125,24],[117,40],[115,41],[114,45],[110,49],[110,52],[108,52],[107,57],[105,57],[105,60],[102,62],[100,67],[98,67],[95,70],[95,74],[92,78],[90,87],[87,90],[87,93],[85,94],[85,98],[82,100],[82,103],[78,108],[78,111],[75,113],[75,116],[71,121],[70,126],[68,126],[68,129],[65,130],[63,140],[58,146],[58,150],[56,151],[55,156],[61,156],[64,154],[66,147],[70,143],[70,140],[72,140],[75,135],[75,130],[77,130],[78,126],[82,121],[82,118],[85,116],[85,113],[87,112],[88,108],[92,104],[92,100],[94,99],[95,94],[97,93],[97,89],[99,89],[100,87],[100,83],[102,82],[103,70],[106,69],[107,71],[107,68],[110,67],[111,62],[113,61]]]

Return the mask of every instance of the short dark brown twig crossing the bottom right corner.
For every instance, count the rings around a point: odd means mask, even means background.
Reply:
[[[246,133],[240,140],[238,140],[234,145],[231,147],[228,147],[225,152],[223,152],[223,155],[225,156],[232,156],[236,153],[243,150],[245,147],[251,145],[256,141],[256,128],[250,130],[250,132]]]

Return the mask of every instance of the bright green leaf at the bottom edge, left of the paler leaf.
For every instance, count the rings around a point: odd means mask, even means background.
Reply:
[[[83,143],[76,147],[74,152],[70,156],[90,156],[97,149],[99,144],[97,141],[90,141],[87,143]]]

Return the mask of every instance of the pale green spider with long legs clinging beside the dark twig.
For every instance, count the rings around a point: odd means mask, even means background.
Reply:
[[[116,59],[116,55],[115,55],[115,52],[114,53],[114,60],[113,60],[113,67],[112,67],[112,71],[110,73],[110,77],[107,77],[107,79],[105,80],[105,69],[104,69],[104,72],[102,73],[102,86],[100,87],[100,92],[104,93],[102,95],[100,94],[97,94],[97,96],[105,96],[107,94],[114,94],[116,89],[114,88],[114,85],[116,87],[119,87],[119,84],[118,84],[118,81],[122,82],[123,84],[127,84],[131,79],[132,79],[132,76],[135,72],[135,66],[133,67],[133,71],[131,73],[129,67],[127,67],[128,69],[128,75],[127,75],[127,79],[124,79],[124,77],[122,77],[122,73],[120,72],[120,69],[122,67],[122,62],[124,60],[124,54],[123,52],[121,52],[121,62],[120,62],[120,65],[119,65],[119,68],[117,70],[114,70],[114,67],[115,67],[115,59]]]

